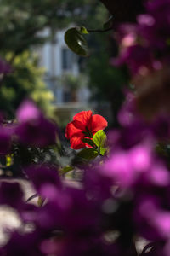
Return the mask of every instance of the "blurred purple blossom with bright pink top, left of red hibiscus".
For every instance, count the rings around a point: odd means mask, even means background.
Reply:
[[[56,126],[46,119],[37,106],[26,100],[17,111],[19,125],[16,135],[20,143],[35,147],[45,147],[55,143]]]

